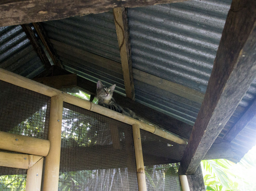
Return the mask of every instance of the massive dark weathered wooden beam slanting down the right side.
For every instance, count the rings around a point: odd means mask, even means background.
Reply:
[[[255,49],[256,1],[232,1],[204,101],[181,160],[181,174],[196,171],[255,79]]]

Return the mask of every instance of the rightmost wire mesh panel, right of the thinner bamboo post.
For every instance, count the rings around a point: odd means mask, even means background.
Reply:
[[[181,191],[178,175],[184,146],[140,129],[148,191]]]

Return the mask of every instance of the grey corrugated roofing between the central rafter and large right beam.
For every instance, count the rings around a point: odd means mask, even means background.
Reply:
[[[133,68],[204,93],[230,4],[194,0],[128,9]],[[134,79],[137,102],[194,125],[200,104],[157,87],[145,90]]]

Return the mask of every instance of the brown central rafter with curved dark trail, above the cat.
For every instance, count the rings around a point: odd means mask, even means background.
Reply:
[[[130,34],[128,28],[128,18],[126,8],[117,7],[113,9],[116,34],[120,50],[121,63],[124,75],[124,86],[126,97],[135,100],[135,91],[132,75],[132,53]]]

